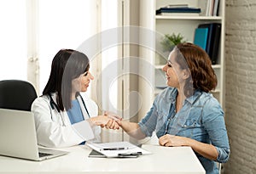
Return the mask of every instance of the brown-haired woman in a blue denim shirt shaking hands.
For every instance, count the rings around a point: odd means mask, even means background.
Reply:
[[[217,174],[214,161],[226,162],[230,144],[224,111],[209,93],[217,86],[211,59],[200,47],[181,43],[163,67],[167,87],[155,99],[139,123],[117,121],[134,138],[151,137],[156,132],[161,146],[190,146],[207,174]],[[107,128],[115,128],[109,121]]]

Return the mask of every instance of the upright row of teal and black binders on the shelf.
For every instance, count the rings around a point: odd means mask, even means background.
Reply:
[[[201,24],[195,29],[194,43],[203,48],[212,60],[212,65],[217,64],[221,24]]]

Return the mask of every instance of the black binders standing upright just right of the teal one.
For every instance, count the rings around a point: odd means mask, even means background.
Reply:
[[[198,25],[198,28],[208,29],[206,52],[208,53],[210,59],[212,60],[212,65],[215,65],[218,59],[218,48],[219,48],[221,24],[219,23],[201,24],[201,25]]]

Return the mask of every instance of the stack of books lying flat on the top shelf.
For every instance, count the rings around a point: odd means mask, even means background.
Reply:
[[[190,8],[188,4],[172,4],[156,10],[159,15],[199,15],[201,8]]]

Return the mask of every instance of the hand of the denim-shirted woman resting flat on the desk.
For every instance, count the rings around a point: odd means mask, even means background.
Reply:
[[[159,138],[161,146],[186,146],[188,138],[166,134]]]

